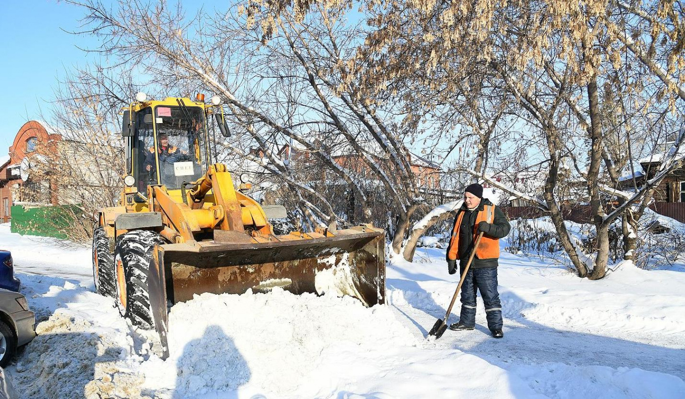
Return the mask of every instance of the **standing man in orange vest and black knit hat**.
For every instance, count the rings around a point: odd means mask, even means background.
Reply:
[[[475,327],[476,289],[480,292],[485,305],[488,329],[495,338],[502,333],[502,307],[497,292],[497,259],[499,258],[499,239],[506,237],[510,230],[509,221],[499,207],[483,198],[483,186],[473,183],[466,187],[464,204],[454,218],[452,237],[447,247],[447,270],[456,273],[459,260],[463,273],[469,255],[473,250],[475,237],[483,233],[475,257],[471,262],[462,285],[462,311],[459,322],[451,324],[450,330],[473,330]]]

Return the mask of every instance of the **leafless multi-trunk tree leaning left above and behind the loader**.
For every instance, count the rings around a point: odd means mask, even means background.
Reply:
[[[87,12],[86,33],[103,36],[98,51],[122,65],[144,66],[166,86],[222,96],[238,136],[227,148],[239,157],[247,157],[251,146],[260,149],[257,161],[301,198],[299,207],[314,225],[351,215],[336,212],[330,198],[280,159],[282,144],[297,144],[314,169],[344,185],[360,208],[360,222],[373,220],[369,195],[382,192],[397,216],[392,242],[399,253],[426,201],[406,143],[416,135],[399,123],[401,97],[377,101],[366,94],[369,81],[360,78],[363,64],[355,51],[364,32],[345,21],[346,7],[315,7],[306,20],[271,14],[277,31],[264,42],[261,27],[234,8],[223,18],[199,12],[188,19],[166,3],[149,8],[122,1],[114,9],[97,1],[74,3]],[[340,155],[354,162],[340,162]]]

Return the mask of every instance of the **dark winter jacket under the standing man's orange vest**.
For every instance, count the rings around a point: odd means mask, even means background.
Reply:
[[[461,212],[464,212],[461,225],[458,229],[458,258],[460,266],[466,265],[466,262],[469,261],[469,256],[471,255],[471,250],[473,250],[474,244],[473,236],[474,229],[476,228],[476,217],[478,212],[484,209],[485,205],[493,205],[493,203],[491,203],[490,200],[488,200],[487,198],[483,198],[482,201],[480,201],[480,204],[478,205],[477,209],[475,209],[474,211],[469,211],[469,209],[466,209],[466,205],[464,204],[459,209],[456,217],[454,218],[454,223],[456,223],[457,220],[459,220],[459,214]],[[455,226],[453,225],[452,231],[454,231],[454,228]],[[506,237],[509,234],[510,229],[511,226],[509,224],[509,220],[507,220],[507,217],[504,215],[501,209],[499,209],[499,207],[495,207],[495,218],[493,219],[493,223],[486,223],[486,231],[484,231],[484,237],[500,239]],[[448,247],[447,254],[449,254],[450,250],[451,248]],[[447,259],[447,261],[449,262],[449,258]],[[497,258],[478,259],[478,256],[476,255],[475,257],[473,257],[473,262],[471,262],[471,268],[476,269],[494,268],[497,266]]]

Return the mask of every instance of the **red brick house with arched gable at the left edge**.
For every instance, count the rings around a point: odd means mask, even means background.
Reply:
[[[44,125],[36,120],[29,120],[16,133],[8,157],[0,157],[0,222],[10,221],[14,203],[28,202],[40,205],[56,205],[57,203],[53,188],[49,186],[34,190],[40,192],[40,196],[34,198],[14,198],[12,195],[12,189],[18,189],[21,185],[37,184],[30,178],[32,159],[36,156],[49,155],[55,151],[58,142],[62,140],[59,134],[48,133]]]

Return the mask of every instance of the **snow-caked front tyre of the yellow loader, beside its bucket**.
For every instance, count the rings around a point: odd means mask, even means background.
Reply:
[[[129,231],[116,240],[114,274],[116,306],[121,316],[141,329],[153,329],[147,273],[157,244],[165,244],[159,233],[147,230]]]

